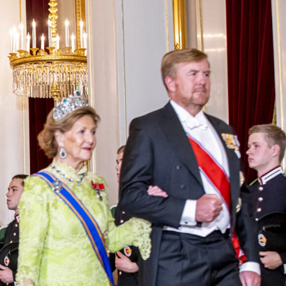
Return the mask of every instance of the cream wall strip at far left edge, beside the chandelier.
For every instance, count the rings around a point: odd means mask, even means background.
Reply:
[[[0,25],[0,225],[13,219],[14,212],[7,210],[6,192],[11,178],[16,174],[29,173],[29,127],[28,102],[22,101],[12,92],[12,70],[10,69],[10,29],[20,24],[19,0],[0,0],[5,7]],[[25,2],[21,2],[25,11]],[[21,15],[25,23],[25,15]],[[24,109],[23,109],[24,104]]]

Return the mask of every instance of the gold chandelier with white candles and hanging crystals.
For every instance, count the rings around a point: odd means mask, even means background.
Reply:
[[[23,48],[23,34],[11,39],[10,67],[13,70],[13,92],[16,95],[33,98],[68,97],[75,89],[80,89],[82,95],[87,94],[87,61],[86,34],[83,33],[83,23],[80,23],[80,44],[77,40],[75,49],[74,36],[69,38],[66,21],[66,40],[64,49],[59,47],[57,35],[58,18],[56,1],[49,1],[49,44],[44,49],[44,37],[41,38],[41,48],[36,47],[36,25],[33,21],[33,46],[30,48],[30,36],[27,35],[26,50]],[[16,38],[16,40],[15,40]],[[18,47],[20,48],[18,49]],[[32,51],[32,54],[30,54]]]

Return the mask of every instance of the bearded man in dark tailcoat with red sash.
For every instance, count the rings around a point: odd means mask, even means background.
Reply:
[[[131,122],[120,174],[119,207],[152,223],[152,251],[139,264],[139,284],[259,286],[239,142],[232,127],[202,110],[211,86],[207,55],[169,52],[161,72],[171,100]],[[150,185],[157,190],[148,191]],[[149,195],[160,189],[162,196]],[[248,258],[240,274],[234,230]]]

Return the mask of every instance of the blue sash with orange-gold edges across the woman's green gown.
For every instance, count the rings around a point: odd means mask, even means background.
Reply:
[[[108,282],[110,285],[114,285],[112,271],[110,268],[109,258],[104,246],[103,234],[95,220],[95,218],[89,213],[83,203],[76,197],[72,190],[62,181],[59,181],[51,173],[39,172],[31,176],[39,177],[43,179],[72,210],[72,212],[80,220],[90,242],[99,259],[102,267],[106,271]]]

